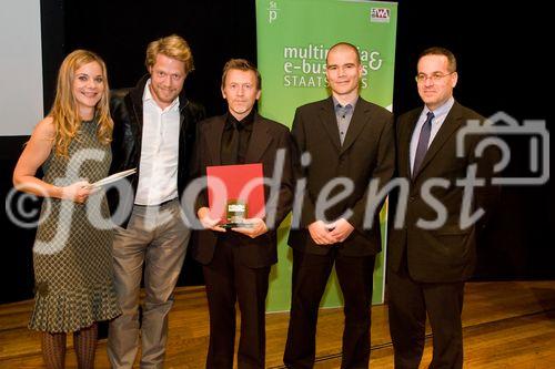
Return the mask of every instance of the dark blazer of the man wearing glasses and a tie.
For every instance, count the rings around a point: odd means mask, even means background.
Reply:
[[[394,229],[390,222],[389,265],[398,271],[406,253],[408,273],[416,281],[451,283],[462,281],[472,276],[476,259],[476,235],[485,226],[487,216],[465,229],[460,226],[463,186],[456,186],[457,178],[466,177],[471,164],[477,164],[477,177],[490,182],[493,164],[497,162],[498,152],[486,150],[482,157],[476,157],[474,151],[483,136],[471,135],[464,140],[463,157],[456,156],[457,131],[467,120],[484,122],[476,112],[455,102],[434,141],[424,156],[418,173],[411,178],[410,143],[422,107],[401,115],[397,120],[397,171],[401,178],[410,183],[406,201],[404,226]],[[416,226],[418,218],[433,221],[436,212],[422,198],[423,184],[430,178],[448,181],[447,187],[434,186],[431,194],[447,212],[447,219],[437,229],[421,229]],[[491,209],[495,203],[498,188],[492,186],[475,189],[472,211],[476,205]]]

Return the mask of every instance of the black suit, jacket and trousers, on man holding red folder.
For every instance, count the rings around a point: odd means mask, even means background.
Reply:
[[[196,165],[205,175],[206,166],[221,165],[222,134],[226,115],[199,124]],[[291,134],[286,126],[255,114],[245,154],[245,164],[262,163],[265,177],[272,177],[276,152],[286,152],[275,226],[250,238],[233,230],[220,234],[202,230],[193,244],[193,257],[203,264],[210,309],[210,348],[208,368],[232,368],[235,336],[235,300],[241,310],[241,339],[238,351],[240,368],[263,368],[265,352],[265,298],[270,267],[278,262],[276,228],[291,211],[293,173]],[[270,188],[264,187],[265,199]],[[206,206],[203,193],[196,207]],[[271,209],[266,206],[266,214]],[[271,226],[271,225],[270,225]]]

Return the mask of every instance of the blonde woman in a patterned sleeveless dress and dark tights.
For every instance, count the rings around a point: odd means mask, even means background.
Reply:
[[[79,368],[93,368],[97,322],[120,314],[109,209],[103,193],[90,186],[108,174],[112,127],[105,64],[90,51],[75,50],[60,66],[50,114],[36,126],[13,172],[18,189],[44,197],[29,328],[42,332],[47,368],[64,367],[69,332]]]

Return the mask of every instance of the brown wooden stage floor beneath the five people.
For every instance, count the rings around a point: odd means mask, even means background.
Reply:
[[[0,368],[43,368],[39,336],[27,329],[31,301],[0,306]],[[287,314],[266,319],[269,368],[283,368]],[[463,314],[465,368],[555,368],[555,281],[497,281],[466,285]],[[339,368],[343,312],[320,314],[315,368]],[[165,368],[203,368],[208,347],[203,287],[180,288],[170,316]],[[71,345],[71,339],[68,340]],[[422,368],[432,353],[430,329]],[[372,308],[372,368],[393,368],[386,306]],[[72,350],[67,367],[75,368]],[[97,368],[109,368],[105,340]]]

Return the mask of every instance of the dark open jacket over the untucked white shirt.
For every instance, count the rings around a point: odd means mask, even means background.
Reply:
[[[137,167],[137,174],[130,177],[132,193],[125,198],[119,198],[114,192],[109,192],[108,201],[112,213],[117,206],[131,208],[134,202],[134,193],[139,183],[141,171],[141,144],[143,111],[142,96],[144,86],[150,75],[144,75],[133,89],[114,90],[110,93],[110,114],[113,120],[112,134],[112,164],[110,173],[117,173]],[[179,162],[178,162],[178,194],[183,189],[191,178],[190,162],[193,153],[196,123],[204,119],[204,107],[189,101],[184,90],[179,95],[180,129],[179,129]],[[120,204],[123,202],[123,204]],[[129,214],[128,214],[129,215]],[[124,224],[129,216],[124,219]]]

